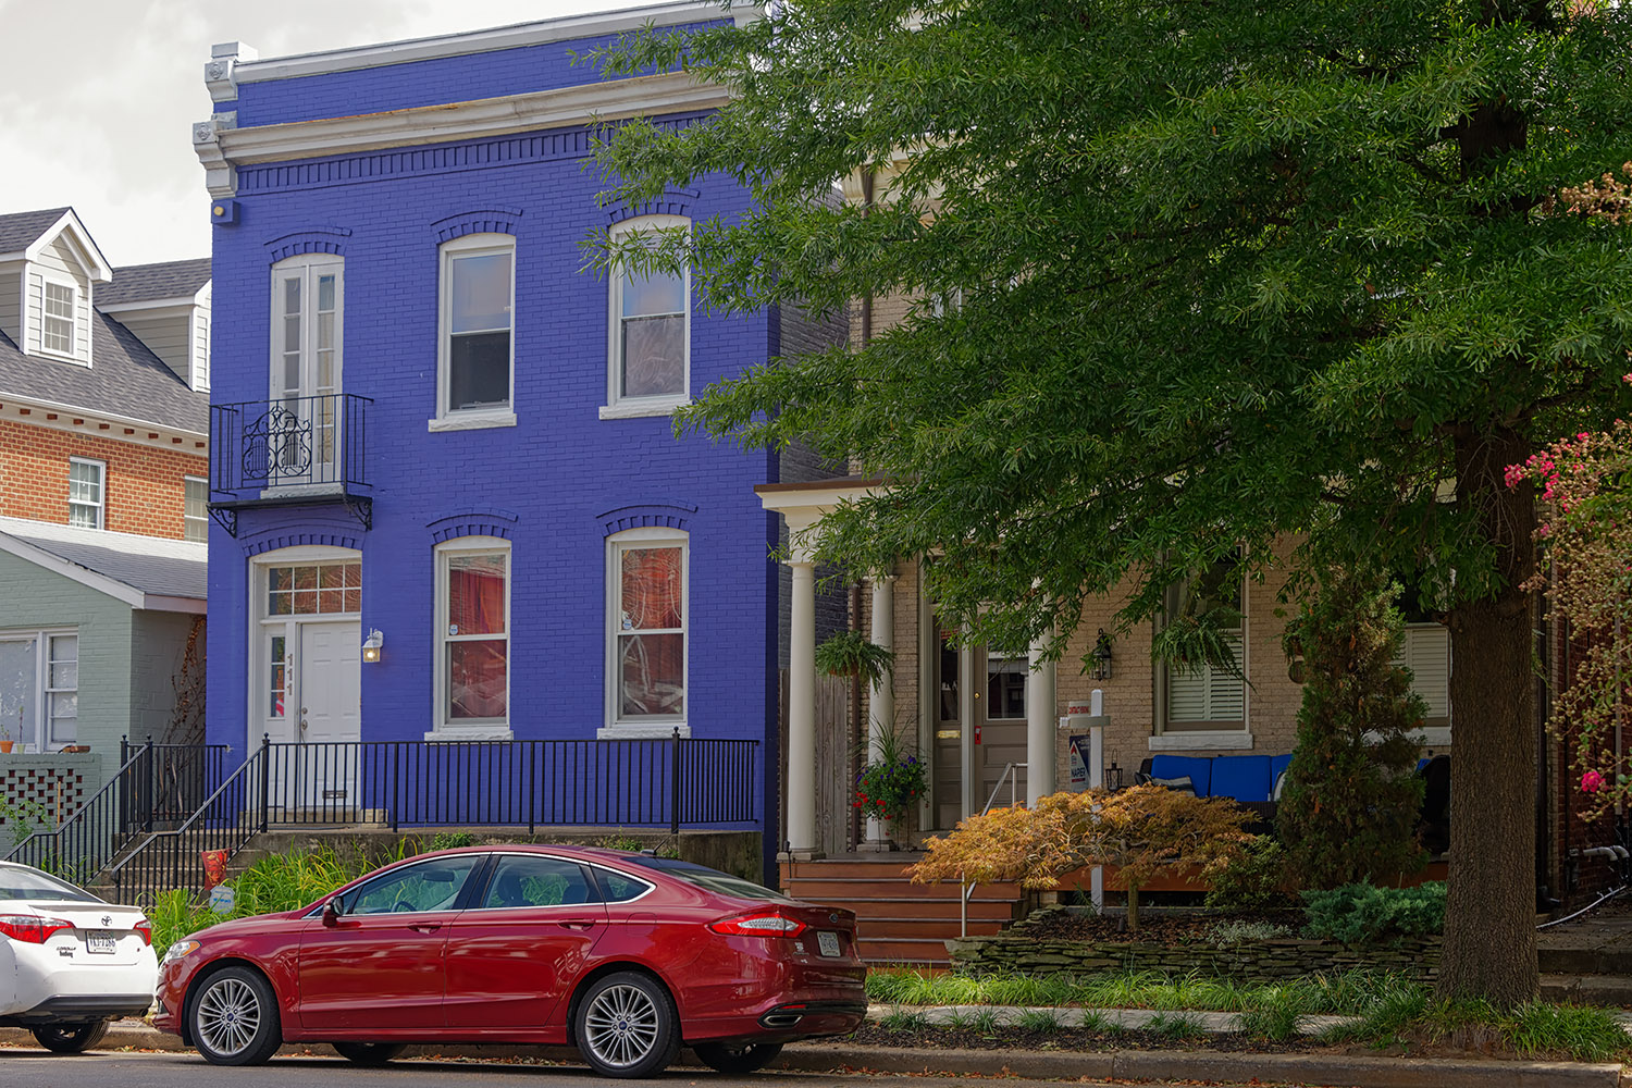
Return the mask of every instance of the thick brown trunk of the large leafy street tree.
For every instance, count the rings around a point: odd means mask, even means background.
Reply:
[[[1513,1006],[1536,997],[1534,573],[1531,486],[1513,431],[1457,439],[1457,507],[1477,512],[1500,587],[1451,617],[1451,873],[1438,993]]]

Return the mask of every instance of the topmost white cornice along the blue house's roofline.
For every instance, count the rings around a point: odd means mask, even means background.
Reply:
[[[351,49],[330,49],[326,52],[307,52],[290,57],[268,57],[266,60],[253,60],[238,54],[235,57],[235,64],[230,67],[224,65],[220,72],[207,70],[206,78],[212,83],[211,90],[214,91],[219,85],[225,85],[227,80],[242,86],[243,83],[259,83],[264,80],[289,80],[302,75],[354,72],[357,69],[377,69],[390,64],[406,64],[410,60],[436,60],[439,57],[460,57],[473,52],[498,52],[501,49],[542,46],[555,41],[602,38],[607,34],[640,29],[648,23],[653,26],[677,26],[681,23],[705,23],[725,18],[733,20],[738,26],[744,26],[761,18],[761,10],[744,7],[726,11],[718,3],[681,0],[679,3],[659,3],[648,8],[573,15],[537,23],[516,23],[493,29],[465,31],[460,34],[415,38],[410,41],[354,46]]]

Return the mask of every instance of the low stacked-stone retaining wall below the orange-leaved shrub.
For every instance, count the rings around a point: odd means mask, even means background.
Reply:
[[[955,967],[974,972],[1089,974],[1093,971],[1191,972],[1242,980],[1276,980],[1322,971],[1376,967],[1417,979],[1439,972],[1439,938],[1405,938],[1392,944],[1350,948],[1296,938],[1214,944],[1155,941],[1049,941],[1031,936],[1025,922],[996,936],[947,941]]]

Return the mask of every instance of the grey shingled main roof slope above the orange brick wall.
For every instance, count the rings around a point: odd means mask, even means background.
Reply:
[[[90,367],[24,356],[0,333],[0,398],[26,396],[197,434],[209,431],[209,393],[189,390],[106,313],[96,313],[95,323]]]

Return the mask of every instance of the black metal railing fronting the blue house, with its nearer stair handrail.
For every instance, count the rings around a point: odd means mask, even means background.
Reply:
[[[108,869],[119,891],[204,887],[202,851],[269,829],[759,827],[759,742],[364,741],[273,744],[173,830]]]

